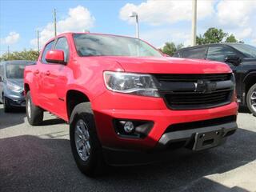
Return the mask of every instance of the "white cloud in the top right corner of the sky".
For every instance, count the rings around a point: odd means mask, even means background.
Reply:
[[[256,1],[221,1],[217,6],[218,21],[224,26],[246,26],[256,9]],[[251,23],[252,24],[252,23]]]

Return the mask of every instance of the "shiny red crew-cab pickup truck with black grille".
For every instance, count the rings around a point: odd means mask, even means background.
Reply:
[[[143,154],[136,162],[156,150],[219,146],[237,130],[229,66],[166,57],[138,38],[60,34],[24,76],[28,122],[40,125],[44,110],[69,122],[87,175],[125,154]]]

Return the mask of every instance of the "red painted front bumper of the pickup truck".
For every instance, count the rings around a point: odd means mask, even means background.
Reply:
[[[92,104],[98,138],[102,146],[116,150],[154,150],[159,145],[159,142],[166,142],[163,138],[172,139],[174,135],[178,135],[178,132],[175,134],[174,132],[165,133],[170,125],[236,116],[238,111],[237,102],[204,110],[170,110],[166,107],[162,98],[138,97],[116,93],[113,95],[110,92],[102,94]],[[146,138],[122,138],[114,130],[114,119],[145,120],[154,122],[154,126]],[[228,126],[225,126],[226,131],[229,128],[236,129],[237,127],[235,122],[232,126]],[[196,129],[197,127],[192,130],[185,130],[183,132],[185,134],[182,134],[183,136],[181,137],[189,140],[192,137],[191,135],[196,133]],[[223,140],[225,139],[223,138]]]

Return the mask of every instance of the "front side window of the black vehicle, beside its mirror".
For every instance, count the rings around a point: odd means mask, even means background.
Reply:
[[[236,55],[236,53],[227,46],[210,46],[207,58],[213,61],[224,62],[225,58],[229,55]]]

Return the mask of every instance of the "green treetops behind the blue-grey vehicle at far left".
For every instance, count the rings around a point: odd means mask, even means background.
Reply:
[[[14,51],[11,53],[2,54],[0,57],[0,61],[8,61],[8,60],[38,60],[38,51],[36,50],[22,50],[22,51]]]

